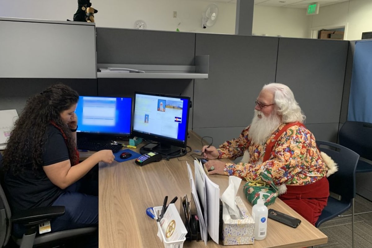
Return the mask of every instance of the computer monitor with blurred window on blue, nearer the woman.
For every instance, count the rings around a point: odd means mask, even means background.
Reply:
[[[79,138],[109,140],[131,135],[131,97],[80,96],[75,113]]]

